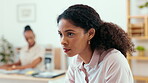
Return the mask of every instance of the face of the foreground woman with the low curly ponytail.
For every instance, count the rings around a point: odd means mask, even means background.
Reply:
[[[61,19],[58,27],[61,45],[69,57],[76,54],[83,54],[90,48],[88,44],[89,34],[85,33],[81,27],[71,24],[66,19]]]

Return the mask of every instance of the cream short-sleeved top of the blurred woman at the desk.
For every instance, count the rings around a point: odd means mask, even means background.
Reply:
[[[25,46],[20,51],[20,61],[21,65],[31,64],[35,59],[41,57],[42,61],[35,67],[38,70],[44,70],[44,54],[45,49],[40,45],[35,44],[33,47],[28,49],[28,46]]]

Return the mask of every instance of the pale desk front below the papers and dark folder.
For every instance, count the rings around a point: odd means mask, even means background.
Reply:
[[[35,78],[18,74],[0,74],[0,83],[64,83],[65,75],[56,78]]]

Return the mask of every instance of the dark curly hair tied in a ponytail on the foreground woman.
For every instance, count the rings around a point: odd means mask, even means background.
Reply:
[[[126,57],[126,53],[133,52],[133,43],[122,28],[118,25],[103,22],[99,14],[90,6],[77,4],[70,6],[57,18],[69,20],[73,25],[81,27],[87,32],[89,29],[96,30],[95,36],[90,40],[91,49],[115,48]]]

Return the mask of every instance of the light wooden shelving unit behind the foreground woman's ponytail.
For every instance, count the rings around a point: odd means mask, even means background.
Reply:
[[[148,14],[131,15],[131,9],[132,9],[131,0],[127,0],[127,28],[128,28],[127,32],[128,32],[128,35],[132,39],[138,39],[138,40],[148,39]],[[131,56],[127,54],[127,60],[131,67],[132,60],[148,61],[148,57]],[[134,76],[134,80],[144,81],[144,83],[148,83],[148,76]]]

